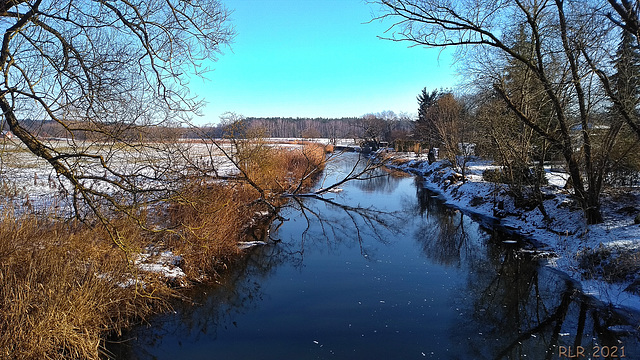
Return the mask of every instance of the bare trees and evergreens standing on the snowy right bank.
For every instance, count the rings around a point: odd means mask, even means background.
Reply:
[[[532,205],[542,204],[544,163],[557,161],[587,223],[603,221],[604,187],[638,169],[636,3],[375,3],[394,24],[388,39],[455,47],[463,63],[459,95],[420,94],[420,140],[437,139],[456,166],[455,144],[476,143]]]

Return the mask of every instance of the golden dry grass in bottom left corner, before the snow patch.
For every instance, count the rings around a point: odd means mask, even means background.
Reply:
[[[100,229],[3,215],[0,358],[97,359],[106,334],[162,305],[122,286],[134,275]]]

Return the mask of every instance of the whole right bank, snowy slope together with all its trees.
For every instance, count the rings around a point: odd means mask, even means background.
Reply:
[[[538,241],[588,293],[640,309],[638,3],[372,3],[393,24],[384,38],[455,48],[465,77],[418,95],[413,136],[395,142],[417,159],[397,166]]]

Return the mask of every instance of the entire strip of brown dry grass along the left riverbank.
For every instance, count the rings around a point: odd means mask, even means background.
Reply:
[[[314,144],[263,147],[237,164],[241,176],[194,178],[161,207],[114,216],[108,228],[7,202],[0,219],[0,358],[108,358],[108,336],[169,310],[181,287],[215,279],[243,249],[263,243],[285,204],[281,195],[311,185],[324,151]]]

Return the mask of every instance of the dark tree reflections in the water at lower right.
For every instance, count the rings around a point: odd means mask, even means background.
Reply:
[[[472,338],[469,351],[474,357],[557,359],[559,346],[572,346],[573,354],[577,346],[583,346],[585,354],[596,344],[621,346],[607,329],[620,319],[595,306],[571,280],[540,268],[516,248],[492,245],[487,252],[485,262],[475,263],[468,278],[474,321],[462,325],[482,334]],[[629,342],[627,353],[632,347],[637,347],[636,339]]]

